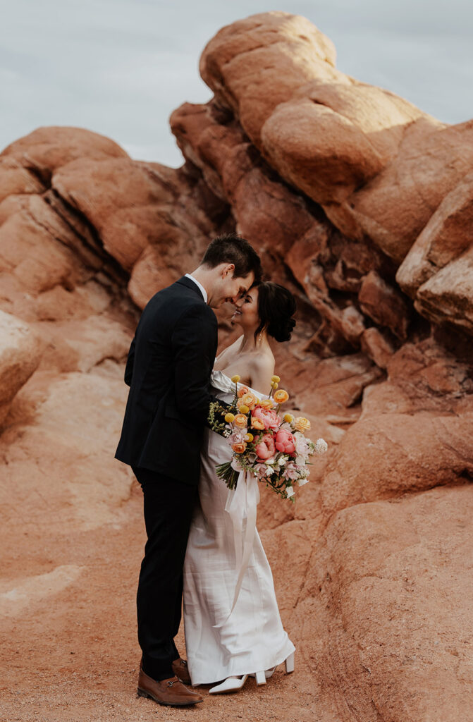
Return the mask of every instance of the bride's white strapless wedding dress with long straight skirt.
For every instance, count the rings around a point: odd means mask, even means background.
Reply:
[[[235,384],[222,371],[212,372],[214,396],[231,401],[234,390]],[[230,513],[225,511],[228,489],[215,474],[215,467],[230,461],[231,455],[227,440],[206,428],[200,503],[191,523],[184,563],[184,627],[192,684],[272,669],[295,650],[282,627],[271,568],[256,530],[234,603],[243,540],[248,539],[247,521],[253,523],[256,515],[258,482],[253,480],[250,488],[241,480]]]

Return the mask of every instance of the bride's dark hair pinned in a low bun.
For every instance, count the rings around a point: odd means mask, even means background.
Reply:
[[[295,326],[295,297],[284,286],[272,281],[261,281],[258,289],[259,326],[254,333],[255,341],[260,331],[266,328],[269,336],[279,342],[289,341]]]

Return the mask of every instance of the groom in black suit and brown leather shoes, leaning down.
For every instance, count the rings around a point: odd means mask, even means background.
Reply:
[[[130,387],[116,458],[142,486],[147,543],[136,597],[142,648],[138,693],[171,706],[203,699],[174,643],[181,622],[183,562],[199,482],[210,374],[217,353],[212,308],[236,303],[261,277],[237,235],[215,238],[199,267],[155,294],[136,328],[125,369]]]

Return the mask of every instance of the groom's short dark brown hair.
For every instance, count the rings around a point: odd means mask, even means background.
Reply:
[[[201,265],[214,269],[219,264],[234,264],[233,278],[246,278],[253,271],[255,282],[261,280],[261,261],[258,253],[245,238],[240,238],[235,233],[219,235],[209,243]]]

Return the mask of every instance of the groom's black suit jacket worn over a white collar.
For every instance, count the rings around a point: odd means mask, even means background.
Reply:
[[[149,300],[126,362],[130,391],[116,458],[198,483],[216,354],[217,318],[194,281],[184,276]]]

